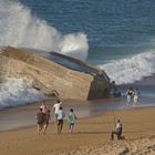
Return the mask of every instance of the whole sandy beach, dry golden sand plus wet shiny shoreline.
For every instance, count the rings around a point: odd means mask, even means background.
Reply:
[[[127,86],[123,85],[121,90],[126,90]],[[73,107],[78,115],[72,135],[69,134],[68,121],[64,121],[61,135],[56,134],[56,124],[53,122],[45,135],[38,135],[34,115],[41,105],[40,102],[3,110],[0,113],[0,154],[154,155],[154,76],[140,85],[136,83],[135,86],[141,87],[143,94],[136,107],[125,107],[126,97],[85,102],[63,101],[64,111]],[[44,103],[52,107],[54,101]],[[115,137],[111,141],[114,121],[118,118],[123,124],[125,140],[117,141]]]

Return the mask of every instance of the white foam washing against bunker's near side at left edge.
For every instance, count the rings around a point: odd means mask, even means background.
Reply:
[[[9,106],[24,105],[29,102],[41,101],[44,95],[32,87],[28,79],[7,79],[0,83],[0,110]]]

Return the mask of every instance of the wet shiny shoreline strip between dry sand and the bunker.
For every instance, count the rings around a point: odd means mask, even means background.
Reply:
[[[140,87],[141,90],[141,101],[138,106],[155,106],[155,74],[144,78],[142,81],[132,83],[132,84],[122,84],[117,85],[118,91],[121,91],[124,95],[124,92],[127,87]],[[42,102],[42,101],[41,101]],[[12,106],[0,110],[0,131],[11,130],[18,127],[25,127],[30,125],[34,125],[35,113],[38,112],[38,107],[41,102],[30,103],[21,106]],[[50,101],[43,101],[49,108],[54,104],[54,99]],[[49,103],[48,103],[49,102]],[[83,100],[64,100],[63,106],[65,112],[69,111],[70,107],[73,107],[80,117],[92,117],[101,114],[102,112],[113,110],[124,110],[126,97],[122,96],[121,99],[99,99],[92,101],[83,101]],[[133,107],[130,107],[133,108]]]

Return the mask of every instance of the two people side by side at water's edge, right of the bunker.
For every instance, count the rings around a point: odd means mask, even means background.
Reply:
[[[127,106],[130,106],[132,103],[134,106],[136,106],[138,103],[140,95],[141,93],[137,87],[135,90],[133,87],[127,89],[126,91]]]

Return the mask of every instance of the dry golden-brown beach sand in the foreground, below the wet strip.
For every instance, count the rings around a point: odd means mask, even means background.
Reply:
[[[115,117],[114,117],[115,116]],[[110,141],[114,120],[123,123],[125,140]],[[50,124],[45,135],[37,126],[0,132],[0,155],[146,155],[155,154],[155,107],[108,111],[76,121],[69,134],[65,121],[61,135]]]

